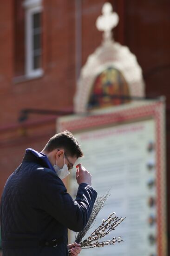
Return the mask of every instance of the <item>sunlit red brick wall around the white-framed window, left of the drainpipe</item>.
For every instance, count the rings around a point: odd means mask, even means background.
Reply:
[[[7,13],[9,13],[7,24],[4,24],[5,21],[2,20],[4,30],[6,28],[4,45],[1,47],[2,57],[0,58],[2,66],[4,66],[0,73],[3,75],[2,84],[5,87],[5,92],[0,98],[2,124],[16,122],[22,108],[59,109],[72,104],[74,74],[70,74],[71,77],[69,77],[68,70],[69,65],[73,66],[73,63],[70,63],[70,59],[73,59],[70,55],[74,56],[74,48],[72,47],[72,51],[69,51],[68,42],[74,40],[74,30],[71,38],[68,25],[71,27],[74,25],[74,16],[71,15],[71,13],[74,14],[74,9],[68,14],[62,1],[50,1],[46,7],[47,3],[48,1],[44,1],[43,11],[43,22],[46,24],[43,31],[45,74],[40,79],[18,84],[13,83],[13,6],[12,4],[9,6],[8,1],[3,5],[0,4],[2,5],[1,12],[6,13],[5,8],[7,8]],[[62,19],[60,20],[60,18]]]

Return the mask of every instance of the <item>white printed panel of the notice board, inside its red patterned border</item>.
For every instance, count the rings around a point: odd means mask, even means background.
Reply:
[[[74,134],[84,152],[79,160],[92,174],[99,195],[111,196],[92,230],[111,212],[126,219],[107,239],[122,236],[124,243],[83,249],[82,256],[155,256],[157,254],[156,128],[153,119]],[[70,191],[78,185],[72,173]],[[153,222],[153,223],[152,223]],[[72,232],[72,242],[75,233]],[[153,239],[152,239],[153,238]]]

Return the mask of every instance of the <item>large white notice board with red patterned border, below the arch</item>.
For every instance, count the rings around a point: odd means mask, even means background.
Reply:
[[[84,152],[78,162],[91,172],[98,195],[111,189],[89,235],[110,213],[126,216],[107,237],[121,235],[123,243],[83,249],[82,256],[167,255],[164,123],[162,101],[133,102],[57,121],[58,132],[67,129],[78,139]],[[67,185],[74,198],[75,170]],[[69,234],[74,242],[75,233]]]

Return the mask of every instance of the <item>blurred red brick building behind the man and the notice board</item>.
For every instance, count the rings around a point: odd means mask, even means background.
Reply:
[[[105,0],[0,1],[0,195],[26,148],[38,151],[73,113],[81,67],[100,45],[95,23]],[[114,39],[142,67],[148,97],[166,97],[170,241],[170,1],[110,0],[120,21]]]

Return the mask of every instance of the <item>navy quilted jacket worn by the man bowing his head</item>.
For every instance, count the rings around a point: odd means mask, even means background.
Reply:
[[[96,196],[82,183],[74,201],[58,175],[27,152],[1,197],[3,256],[67,256],[67,228],[85,227]],[[54,239],[59,241],[56,247],[44,245]]]

